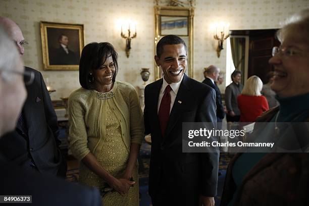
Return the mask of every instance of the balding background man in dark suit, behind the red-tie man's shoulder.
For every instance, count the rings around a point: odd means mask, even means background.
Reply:
[[[219,123],[218,129],[219,129],[219,125],[221,125],[222,119],[225,116],[224,108],[222,105],[221,92],[216,83],[219,77],[219,73],[220,73],[220,69],[218,67],[215,67],[214,65],[211,65],[205,68],[205,71],[204,71],[205,79],[204,81],[202,81],[202,83],[207,84],[208,86],[212,87],[216,91],[217,122]]]

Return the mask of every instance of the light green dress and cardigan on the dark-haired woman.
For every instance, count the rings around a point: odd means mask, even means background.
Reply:
[[[112,94],[113,93],[113,94]],[[81,161],[91,152],[114,177],[121,178],[127,166],[131,143],[144,138],[143,116],[134,87],[116,81],[112,93],[84,88],[69,97],[69,142],[73,156]],[[138,206],[138,164],[133,170],[135,185],[125,196],[110,191],[102,197],[105,206]],[[106,182],[82,162],[79,182],[99,190]]]

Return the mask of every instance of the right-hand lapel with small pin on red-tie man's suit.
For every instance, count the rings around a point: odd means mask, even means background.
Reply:
[[[179,117],[181,116],[185,105],[185,101],[190,99],[188,92],[190,90],[190,86],[188,84],[188,77],[186,74],[184,75],[180,87],[177,92],[177,96],[174,101],[174,105],[170,114],[169,122],[167,128],[164,133],[163,141],[165,141],[166,137],[170,134],[175,124],[177,123]]]

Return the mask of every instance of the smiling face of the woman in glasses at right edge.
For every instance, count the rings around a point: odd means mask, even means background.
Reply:
[[[303,38],[287,33],[280,48],[289,50],[290,55],[279,52],[269,60],[275,68],[271,88],[281,97],[309,92],[309,43],[306,42]]]

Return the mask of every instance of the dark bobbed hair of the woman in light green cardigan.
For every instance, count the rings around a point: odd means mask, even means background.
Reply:
[[[118,72],[118,54],[114,46],[109,42],[91,42],[83,48],[79,61],[79,83],[83,88],[93,89],[90,73],[94,69],[99,69],[106,59],[111,56],[116,70],[113,75],[113,82],[115,82]]]

